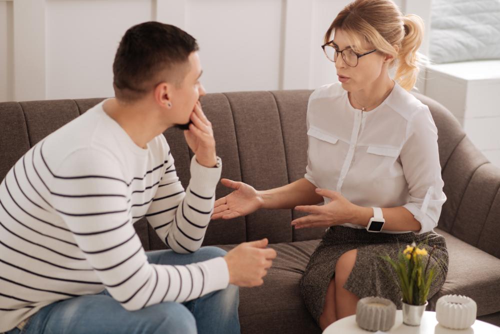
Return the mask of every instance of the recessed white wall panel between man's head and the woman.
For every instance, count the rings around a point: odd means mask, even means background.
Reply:
[[[279,88],[282,0],[191,0],[186,31],[200,46],[207,91]]]

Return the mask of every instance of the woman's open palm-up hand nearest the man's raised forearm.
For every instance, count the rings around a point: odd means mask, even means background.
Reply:
[[[231,219],[247,215],[262,206],[262,197],[251,185],[227,178],[222,178],[220,183],[233,188],[234,191],[215,201],[212,219]]]

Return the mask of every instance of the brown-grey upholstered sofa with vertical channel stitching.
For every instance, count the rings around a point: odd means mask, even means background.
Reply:
[[[311,91],[253,91],[208,94],[201,99],[212,121],[222,177],[267,189],[303,177],[307,137],[305,111]],[[422,96],[438,128],[439,155],[447,201],[437,232],[446,237],[449,271],[430,299],[459,293],[477,302],[478,318],[500,325],[500,169],[472,145],[442,105]],[[0,103],[0,179],[30,146],[102,98]],[[191,152],[182,132],[165,133],[176,169],[187,185]],[[228,193],[220,184],[217,198]],[[255,288],[240,289],[243,333],[320,332],[301,299],[298,282],[324,229],[293,230],[292,210],[260,210],[229,221],[212,221],[204,245],[230,249],[267,237],[278,256]],[[165,248],[144,219],[135,228],[146,250]]]

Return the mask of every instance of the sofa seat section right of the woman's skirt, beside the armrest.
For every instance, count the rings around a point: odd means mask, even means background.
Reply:
[[[429,300],[430,309],[442,295],[462,294],[475,300],[478,316],[500,311],[500,259],[443,230],[435,231],[446,238],[449,266],[444,285]]]

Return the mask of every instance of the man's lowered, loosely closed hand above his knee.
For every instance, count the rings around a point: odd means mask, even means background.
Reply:
[[[229,269],[229,283],[237,286],[257,286],[276,257],[276,251],[267,246],[267,239],[243,242],[229,250],[224,259]]]

